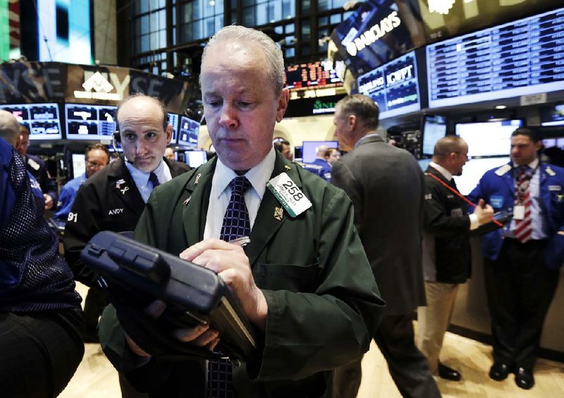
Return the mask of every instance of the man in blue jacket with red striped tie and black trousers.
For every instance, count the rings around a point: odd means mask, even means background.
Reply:
[[[490,378],[515,373],[517,386],[534,385],[533,367],[544,318],[564,261],[564,168],[540,161],[532,130],[511,135],[511,161],[484,174],[469,199],[513,212],[503,230],[482,238],[494,365]]]

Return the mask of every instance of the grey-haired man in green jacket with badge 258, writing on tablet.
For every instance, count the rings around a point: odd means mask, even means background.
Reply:
[[[353,206],[341,189],[274,150],[288,91],[281,51],[269,37],[224,27],[204,49],[200,82],[218,156],[154,189],[135,237],[218,272],[259,331],[256,357],[233,366],[235,397],[329,397],[331,369],[368,350],[384,306]],[[248,189],[238,210],[247,213],[250,232],[244,249],[218,239],[225,239],[232,183],[241,175]],[[110,307],[100,324],[102,347],[137,390],[216,397],[206,387],[213,371],[204,361],[150,356],[116,323]],[[176,337],[210,348],[221,339],[207,325]]]

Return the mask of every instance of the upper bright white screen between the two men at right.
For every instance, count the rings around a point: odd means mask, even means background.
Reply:
[[[468,156],[503,156],[510,152],[511,134],[522,125],[522,120],[457,123],[455,131],[468,144]]]

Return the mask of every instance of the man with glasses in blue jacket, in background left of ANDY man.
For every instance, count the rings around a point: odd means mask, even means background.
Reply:
[[[102,170],[106,164],[110,163],[110,153],[105,145],[103,144],[90,144],[85,151],[85,161],[86,170],[77,178],[67,182],[63,188],[61,188],[61,194],[59,194],[59,202],[57,203],[57,209],[55,211],[55,218],[59,220],[66,220],[68,213],[71,211],[73,202],[75,201],[76,193],[78,188],[85,182],[87,178],[92,177],[94,173]]]

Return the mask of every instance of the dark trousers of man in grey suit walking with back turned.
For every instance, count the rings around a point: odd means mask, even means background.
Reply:
[[[384,316],[374,341],[384,355],[393,381],[403,397],[441,397],[427,359],[415,347],[410,315]],[[336,369],[333,397],[356,397],[361,378],[360,361]]]

